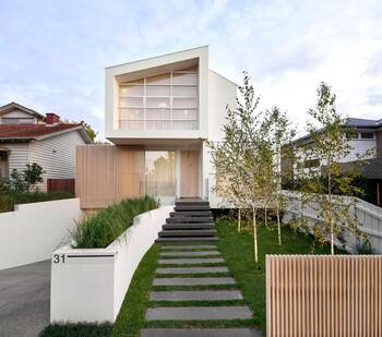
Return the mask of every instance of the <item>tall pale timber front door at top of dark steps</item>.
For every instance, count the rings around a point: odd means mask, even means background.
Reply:
[[[199,151],[180,152],[180,197],[199,196]]]

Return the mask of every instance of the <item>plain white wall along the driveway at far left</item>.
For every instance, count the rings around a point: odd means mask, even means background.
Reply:
[[[50,258],[68,242],[74,219],[81,216],[80,200],[17,205],[0,213],[0,270]]]

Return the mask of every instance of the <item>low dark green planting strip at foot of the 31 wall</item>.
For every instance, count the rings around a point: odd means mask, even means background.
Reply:
[[[112,326],[104,324],[50,324],[39,337],[106,337],[110,335]]]

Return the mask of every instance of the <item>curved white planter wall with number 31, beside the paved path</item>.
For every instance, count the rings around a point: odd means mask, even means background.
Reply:
[[[50,322],[115,322],[133,274],[174,206],[141,214],[105,249],[63,246],[51,255]]]

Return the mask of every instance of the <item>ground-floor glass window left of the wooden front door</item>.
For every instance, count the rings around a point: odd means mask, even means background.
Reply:
[[[145,193],[151,196],[175,196],[175,152],[145,152]]]

